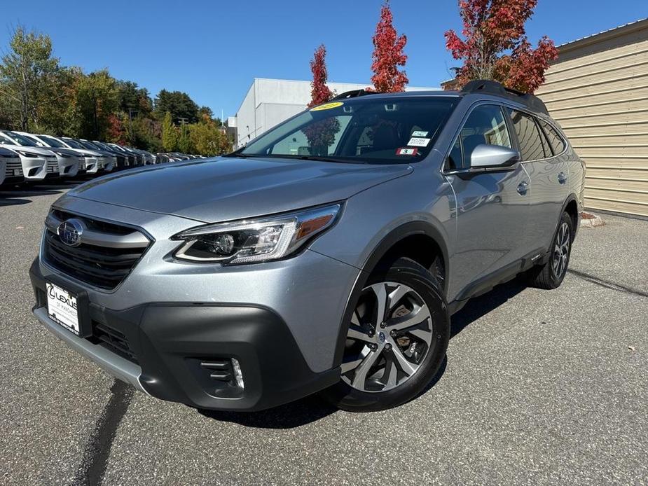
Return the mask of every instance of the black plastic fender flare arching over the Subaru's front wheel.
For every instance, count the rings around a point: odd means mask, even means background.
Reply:
[[[371,251],[371,254],[362,265],[361,271],[347,300],[347,305],[345,306],[344,313],[342,314],[342,321],[340,321],[338,328],[338,338],[336,342],[335,356],[333,357],[333,367],[340,366],[340,363],[342,363],[344,342],[348,331],[348,326],[345,323],[351,321],[351,314],[353,313],[357,305],[358,298],[362,289],[364,289],[369,275],[371,275],[371,272],[373,271],[375,266],[378,265],[380,259],[387,254],[387,251],[390,251],[390,249],[394,247],[394,244],[397,244],[406,237],[413,235],[426,235],[434,239],[434,242],[436,242],[439,249],[441,249],[446,274],[444,282],[446,282],[447,286],[448,275],[450,273],[450,261],[448,259],[448,244],[441,231],[435,228],[431,223],[427,223],[425,221],[411,221],[391,230],[374,247],[374,249]]]

